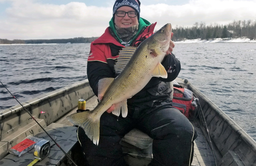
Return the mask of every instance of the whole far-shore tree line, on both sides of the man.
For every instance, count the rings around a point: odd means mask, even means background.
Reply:
[[[173,41],[182,41],[186,39],[213,40],[215,38],[249,38],[256,40],[256,20],[233,21],[227,25],[205,25],[204,22],[196,22],[192,27],[178,27],[172,29]],[[51,44],[51,43],[91,43],[98,37],[76,37],[70,39],[38,39],[38,40],[7,40],[0,39],[0,44]]]

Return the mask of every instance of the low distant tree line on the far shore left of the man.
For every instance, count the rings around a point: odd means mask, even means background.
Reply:
[[[70,39],[36,39],[36,40],[7,40],[0,39],[0,44],[52,44],[52,43],[91,43],[97,37],[75,37]]]

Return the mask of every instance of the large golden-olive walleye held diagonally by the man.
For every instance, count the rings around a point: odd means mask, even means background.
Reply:
[[[85,134],[96,145],[99,144],[100,116],[115,104],[113,114],[122,116],[128,113],[127,99],[138,93],[152,77],[167,78],[167,72],[161,61],[169,48],[172,26],[166,24],[156,33],[142,41],[139,47],[126,47],[120,51],[115,71],[116,78],[99,80],[99,103],[92,111],[84,111],[68,116],[68,120],[82,127]]]

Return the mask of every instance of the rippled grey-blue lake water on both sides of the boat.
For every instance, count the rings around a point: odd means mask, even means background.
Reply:
[[[0,45],[0,80],[20,101],[86,79],[90,44]],[[176,43],[180,78],[256,140],[256,43]],[[0,86],[0,111],[17,105]]]

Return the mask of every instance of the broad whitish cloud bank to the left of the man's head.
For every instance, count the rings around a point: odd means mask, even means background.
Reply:
[[[14,1],[5,12],[8,18],[0,19],[0,31],[8,39],[52,39],[100,36],[108,27],[112,7],[79,2],[39,4],[27,0]]]

